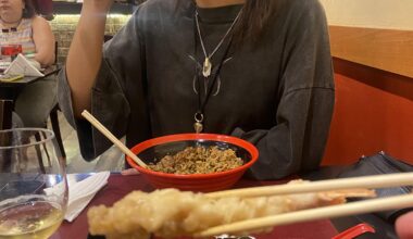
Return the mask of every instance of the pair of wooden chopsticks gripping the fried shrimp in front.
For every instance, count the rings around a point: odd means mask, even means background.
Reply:
[[[364,176],[358,178],[331,179],[308,184],[264,186],[250,189],[235,189],[208,193],[209,197],[245,197],[250,191],[253,196],[274,196],[285,193],[303,193],[315,191],[328,191],[335,189],[351,188],[387,188],[413,185],[413,173],[400,173],[391,175]],[[291,213],[265,216],[253,219],[240,221],[200,231],[195,237],[210,237],[213,235],[251,231],[262,228],[280,226],[292,223],[302,223],[314,219],[334,218],[340,216],[372,213],[377,211],[413,207],[413,193],[395,196],[380,199],[370,199],[360,202],[351,202],[340,205],[331,205],[318,209],[302,210]]]

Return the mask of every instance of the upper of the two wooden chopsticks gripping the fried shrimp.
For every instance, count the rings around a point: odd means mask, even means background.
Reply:
[[[287,184],[276,186],[261,186],[242,189],[231,189],[225,191],[210,192],[205,196],[210,198],[224,197],[266,197],[275,194],[292,194],[316,191],[328,191],[339,189],[355,188],[389,188],[398,186],[413,185],[413,173],[398,173],[390,175],[363,176],[342,179],[330,179],[311,181],[308,184]]]

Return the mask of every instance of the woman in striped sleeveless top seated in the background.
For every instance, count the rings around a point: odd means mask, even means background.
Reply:
[[[23,54],[41,67],[54,63],[54,36],[38,16],[32,0],[0,0],[0,45],[21,45]],[[33,83],[18,92],[15,113],[24,127],[43,127],[57,103],[55,76]]]

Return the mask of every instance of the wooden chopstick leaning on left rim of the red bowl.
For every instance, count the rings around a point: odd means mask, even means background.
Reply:
[[[132,152],[124,143],[122,143],[107,127],[104,127],[93,115],[88,111],[83,111],[82,116],[84,116],[90,124],[92,124],[100,133],[102,133],[109,140],[111,140],[122,152],[130,156],[139,166],[148,168],[147,164],[143,163],[134,152]]]

